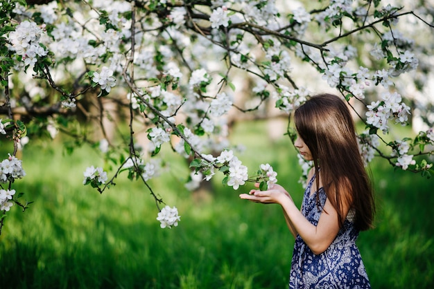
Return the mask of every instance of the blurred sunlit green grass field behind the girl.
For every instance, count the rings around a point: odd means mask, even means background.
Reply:
[[[287,138],[238,127],[250,171],[269,162],[300,205],[300,168]],[[6,158],[7,150],[1,151]],[[101,166],[96,153],[31,145],[23,151],[27,176],[15,183],[34,201],[12,207],[0,236],[0,288],[286,288],[293,237],[281,208],[240,200],[216,178],[209,194],[183,187],[188,171],[171,153],[174,171],[152,180],[155,192],[180,212],[178,227],[162,230],[152,196],[121,176],[100,195],[83,186],[83,171]],[[434,180],[374,162],[376,227],[358,245],[372,288],[434,288]]]

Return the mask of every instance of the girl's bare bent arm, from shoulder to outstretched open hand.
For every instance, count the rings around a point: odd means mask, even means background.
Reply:
[[[336,238],[339,232],[338,213],[327,200],[324,204],[318,225],[311,224],[302,212],[295,206],[291,198],[288,198],[287,192],[281,189],[269,189],[268,191],[259,191],[252,189],[250,194],[241,194],[240,198],[260,202],[260,203],[278,203],[284,209],[285,218],[287,217],[288,227],[291,232],[297,232],[303,241],[311,248],[314,254],[320,254],[329,248],[329,245]],[[348,212],[348,206],[345,206],[344,212]]]

